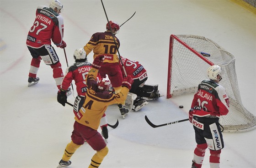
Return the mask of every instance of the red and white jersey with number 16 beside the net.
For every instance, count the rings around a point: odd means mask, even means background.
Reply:
[[[193,116],[220,117],[229,112],[229,97],[224,87],[214,81],[204,80],[197,87],[191,108]]]

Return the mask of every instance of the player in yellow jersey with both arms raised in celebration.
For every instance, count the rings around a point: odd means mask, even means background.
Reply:
[[[110,81],[105,78],[101,79],[98,83],[96,81],[102,60],[104,60],[104,55],[99,55],[94,59],[92,68],[86,77],[87,91],[85,102],[80,111],[75,114],[71,142],[66,146],[64,155],[57,168],[69,166],[71,164],[69,159],[85,141],[96,151],[91,158],[91,164],[88,168],[98,168],[108,153],[107,144],[97,131],[101,117],[109,105],[120,103],[126,99],[133,84],[133,79],[131,76],[125,77],[120,92],[116,94],[108,92]]]

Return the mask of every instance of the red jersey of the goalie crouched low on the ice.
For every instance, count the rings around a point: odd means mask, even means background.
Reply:
[[[122,56],[120,56],[120,59],[123,62],[123,65],[122,65],[122,63],[119,61],[119,66],[121,68],[123,76],[124,76],[124,71],[123,71],[123,66],[124,66],[127,75],[130,75],[133,78],[133,80],[139,79],[141,81],[145,77],[148,77],[147,71],[138,61],[131,61]]]

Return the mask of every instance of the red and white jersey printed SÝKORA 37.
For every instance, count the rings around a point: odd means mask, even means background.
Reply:
[[[36,19],[27,35],[27,46],[40,48],[50,45],[60,45],[63,40],[64,20],[61,15],[46,6],[38,6]]]

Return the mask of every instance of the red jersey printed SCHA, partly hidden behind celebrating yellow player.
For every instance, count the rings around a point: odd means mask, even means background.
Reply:
[[[87,90],[85,78],[88,75],[90,69],[91,63],[89,62],[76,62],[72,66],[69,66],[60,86],[61,89],[68,90],[72,80],[74,80],[77,94],[80,96],[85,96]],[[101,78],[99,73],[97,78],[97,80]]]

